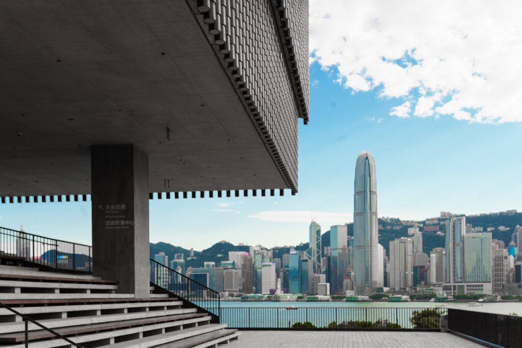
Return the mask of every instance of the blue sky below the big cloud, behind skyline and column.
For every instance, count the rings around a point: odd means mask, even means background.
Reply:
[[[390,116],[398,100],[378,97],[378,89],[352,93],[335,82],[335,69],[317,63],[310,71],[310,124],[299,126],[299,194],[153,200],[151,242],[196,250],[222,239],[271,247],[305,242],[314,217],[323,232],[351,222],[362,150],[375,157],[380,216],[522,210],[520,124]],[[27,232],[89,244],[90,210],[90,202],[1,205],[0,225],[23,223]]]

